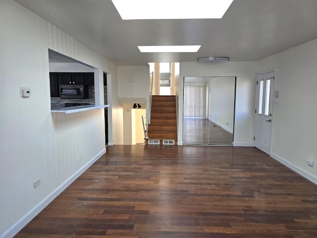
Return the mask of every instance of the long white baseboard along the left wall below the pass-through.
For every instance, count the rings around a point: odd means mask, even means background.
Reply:
[[[98,153],[92,160],[79,169],[75,174],[60,184],[53,192],[51,192],[40,203],[33,207],[28,213],[21,217],[16,223],[14,223],[8,230],[0,235],[0,238],[12,238],[19,231],[22,230],[36,215],[38,215],[47,205],[49,205],[54,198],[56,198],[65,188],[67,188],[75,179],[83,174],[92,164],[94,164],[100,157],[106,153],[106,148]]]

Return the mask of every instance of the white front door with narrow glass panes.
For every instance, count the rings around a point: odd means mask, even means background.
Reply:
[[[254,146],[271,153],[273,85],[275,72],[258,74],[254,126]]]

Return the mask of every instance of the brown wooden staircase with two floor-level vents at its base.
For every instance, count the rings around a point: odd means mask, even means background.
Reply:
[[[146,144],[177,144],[177,116],[175,96],[152,96],[151,123]]]

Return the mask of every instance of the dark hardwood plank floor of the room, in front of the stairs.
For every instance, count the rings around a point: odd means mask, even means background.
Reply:
[[[317,185],[251,147],[110,146],[17,238],[316,238]]]

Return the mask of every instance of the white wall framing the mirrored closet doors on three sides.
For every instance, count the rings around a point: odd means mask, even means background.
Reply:
[[[183,144],[183,88],[185,76],[236,76],[235,146],[253,146],[253,117],[257,62],[181,62],[179,80],[178,144]]]

